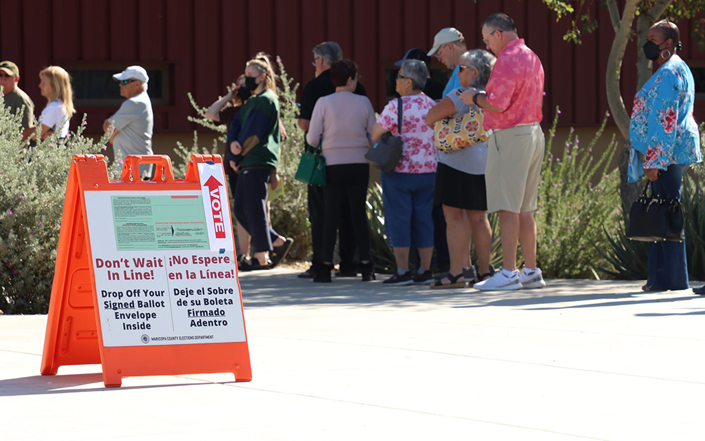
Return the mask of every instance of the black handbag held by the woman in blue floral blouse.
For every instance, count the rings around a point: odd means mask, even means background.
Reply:
[[[651,195],[647,193],[651,186]],[[670,198],[666,188],[665,195],[654,195],[652,181],[646,183],[644,194],[632,204],[629,212],[629,229],[627,238],[643,242],[681,242],[683,235],[683,210],[675,198]]]

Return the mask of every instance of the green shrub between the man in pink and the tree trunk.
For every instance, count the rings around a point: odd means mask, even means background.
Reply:
[[[592,155],[607,123],[606,114],[587,147],[580,145],[571,128],[563,154],[553,155],[558,114],[557,109],[539,183],[539,207],[535,213],[538,263],[547,277],[596,277],[596,267],[605,262],[595,246],[606,245],[603,226],[617,226],[620,217],[618,171],[608,170],[615,155],[615,139],[613,136],[604,155]]]

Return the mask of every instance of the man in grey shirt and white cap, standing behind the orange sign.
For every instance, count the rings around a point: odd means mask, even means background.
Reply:
[[[152,100],[147,95],[149,75],[142,66],[130,66],[113,78],[120,83],[120,95],[127,98],[116,113],[105,120],[103,131],[115,126],[110,138],[113,151],[121,157],[152,155],[154,114]],[[142,178],[152,179],[154,164],[140,165]]]

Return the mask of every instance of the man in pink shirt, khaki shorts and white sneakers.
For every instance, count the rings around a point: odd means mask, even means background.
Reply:
[[[539,177],[546,140],[543,119],[544,67],[517,35],[514,21],[503,13],[487,18],[482,41],[497,61],[484,91],[462,94],[484,109],[484,128],[491,133],[485,183],[487,211],[499,216],[503,267],[491,279],[474,284],[482,291],[546,286],[536,263],[536,222]],[[524,269],[517,271],[517,244],[524,251]]]

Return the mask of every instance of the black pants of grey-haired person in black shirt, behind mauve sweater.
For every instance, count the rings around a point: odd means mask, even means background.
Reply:
[[[323,224],[326,213],[323,189],[324,187],[321,186],[308,186],[309,222],[311,222],[311,246],[313,250],[311,266],[314,269],[318,269],[323,263]],[[353,223],[350,222],[350,204],[348,203],[347,194],[343,194],[340,230],[338,233],[340,239],[338,250],[341,255],[341,270],[344,272],[354,270],[355,230],[353,229]]]

